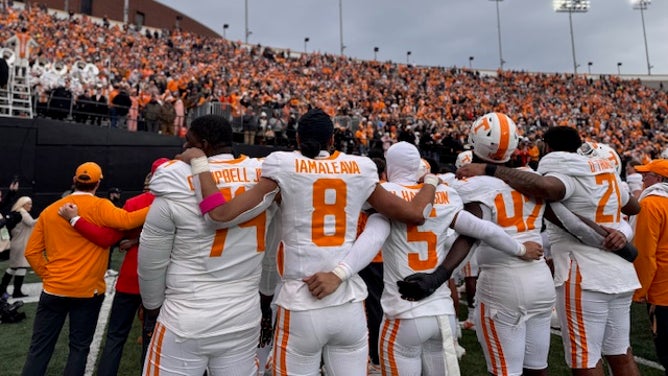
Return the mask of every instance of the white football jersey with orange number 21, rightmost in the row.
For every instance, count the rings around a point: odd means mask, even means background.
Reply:
[[[589,159],[576,153],[551,152],[538,164],[538,172],[554,176],[566,187],[561,201],[570,211],[600,225],[619,228],[621,208],[628,202],[628,191],[607,159]],[[582,287],[609,294],[633,291],[640,287],[633,264],[612,252],[589,247],[548,222],[555,264],[555,284],[568,279],[569,259],[577,261]]]

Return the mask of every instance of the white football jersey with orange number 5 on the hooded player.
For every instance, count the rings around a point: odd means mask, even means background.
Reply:
[[[421,185],[383,183],[383,187],[410,201],[420,191]],[[457,192],[440,184],[436,189],[434,206],[424,224],[415,226],[391,221],[392,230],[383,244],[385,289],[380,299],[383,312],[388,317],[408,319],[455,313],[447,283],[429,297],[410,302],[401,298],[397,281],[414,273],[431,273],[443,262],[452,245],[451,237],[456,236],[449,231],[450,224],[462,208]]]

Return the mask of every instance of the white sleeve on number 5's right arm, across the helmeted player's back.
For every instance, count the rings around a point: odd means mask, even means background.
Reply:
[[[462,235],[480,239],[511,256],[523,254],[524,246],[506,234],[501,227],[490,221],[482,220],[465,210],[461,210],[457,214],[452,228]]]

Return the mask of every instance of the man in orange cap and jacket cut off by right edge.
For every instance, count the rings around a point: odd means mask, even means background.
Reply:
[[[633,300],[648,304],[656,354],[668,368],[668,160],[656,159],[635,170],[642,174],[644,189],[640,213],[632,217],[638,248],[633,264],[642,286]]]

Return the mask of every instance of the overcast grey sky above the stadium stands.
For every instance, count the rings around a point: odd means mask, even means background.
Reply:
[[[308,52],[338,54],[339,0],[159,0],[223,33],[248,42]],[[496,3],[490,0],[340,0],[345,55],[438,66],[499,67]],[[504,68],[573,72],[568,13],[552,0],[498,3]],[[644,12],[652,74],[668,75],[668,0],[654,0]],[[587,13],[573,13],[578,72],[647,74],[641,12],[631,0],[591,0]]]

